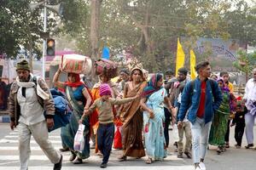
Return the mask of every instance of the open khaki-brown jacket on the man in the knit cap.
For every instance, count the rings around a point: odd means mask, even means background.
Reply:
[[[50,96],[49,99],[45,100],[38,96],[38,102],[44,107],[44,110],[46,111],[46,117],[52,117],[55,115],[55,104],[49,92],[49,88],[42,78],[38,78],[38,85],[44,90],[45,93],[49,94]],[[17,100],[17,93],[19,88],[20,87],[15,81],[13,82],[9,93],[9,117],[10,120],[15,122],[16,125],[18,125],[20,118],[20,105],[18,104]],[[37,91],[36,87],[35,90]]]

